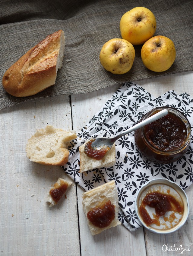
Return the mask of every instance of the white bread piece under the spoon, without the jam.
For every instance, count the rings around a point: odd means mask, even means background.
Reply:
[[[87,141],[86,141],[87,142]],[[112,148],[106,153],[106,155],[101,160],[96,160],[88,157],[84,153],[85,144],[79,147],[80,152],[80,171],[89,171],[96,168],[109,167],[115,164],[115,143]]]

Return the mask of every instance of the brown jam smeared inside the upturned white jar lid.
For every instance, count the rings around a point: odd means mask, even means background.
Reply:
[[[155,208],[156,215],[153,219],[150,217],[147,210],[145,209],[146,205]],[[174,212],[183,214],[184,207],[172,195],[163,194],[159,191],[148,193],[142,200],[139,208],[141,217],[147,226],[151,224],[156,224],[157,226],[160,226],[159,218],[160,216],[164,216],[167,211],[173,211],[173,213],[170,214],[170,219],[168,217],[164,217],[164,220],[173,221],[175,219]]]

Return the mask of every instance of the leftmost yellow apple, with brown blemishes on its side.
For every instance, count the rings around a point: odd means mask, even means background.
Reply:
[[[135,49],[125,39],[113,38],[103,45],[99,58],[107,71],[121,75],[131,69],[135,58]]]

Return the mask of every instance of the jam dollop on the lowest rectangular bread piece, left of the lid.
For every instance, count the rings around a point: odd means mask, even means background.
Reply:
[[[98,228],[108,227],[115,218],[115,206],[109,200],[105,204],[91,209],[87,213],[87,218]]]

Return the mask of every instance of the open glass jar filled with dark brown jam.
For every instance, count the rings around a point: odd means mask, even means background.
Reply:
[[[168,115],[135,131],[135,145],[148,160],[168,164],[185,155],[191,139],[191,126],[180,111],[171,107],[154,108],[140,121],[167,109]]]

